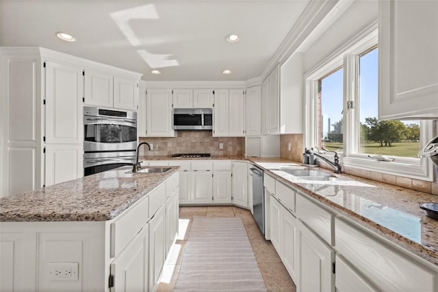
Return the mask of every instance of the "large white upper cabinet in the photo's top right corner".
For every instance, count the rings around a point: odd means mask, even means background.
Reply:
[[[379,119],[438,117],[438,1],[379,1]]]

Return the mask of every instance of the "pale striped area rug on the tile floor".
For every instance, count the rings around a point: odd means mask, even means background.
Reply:
[[[175,291],[266,291],[238,217],[194,217]]]

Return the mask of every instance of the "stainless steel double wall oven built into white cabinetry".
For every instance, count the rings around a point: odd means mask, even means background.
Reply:
[[[136,162],[136,112],[86,106],[83,125],[84,175]]]

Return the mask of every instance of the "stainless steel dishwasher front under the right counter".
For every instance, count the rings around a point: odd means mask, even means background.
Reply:
[[[263,188],[263,169],[251,167],[253,176],[253,216],[261,233],[265,234],[265,195]]]

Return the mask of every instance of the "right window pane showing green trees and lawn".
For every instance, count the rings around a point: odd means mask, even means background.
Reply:
[[[420,121],[378,121],[378,49],[359,57],[360,153],[417,158]],[[395,158],[394,158],[395,159]]]

